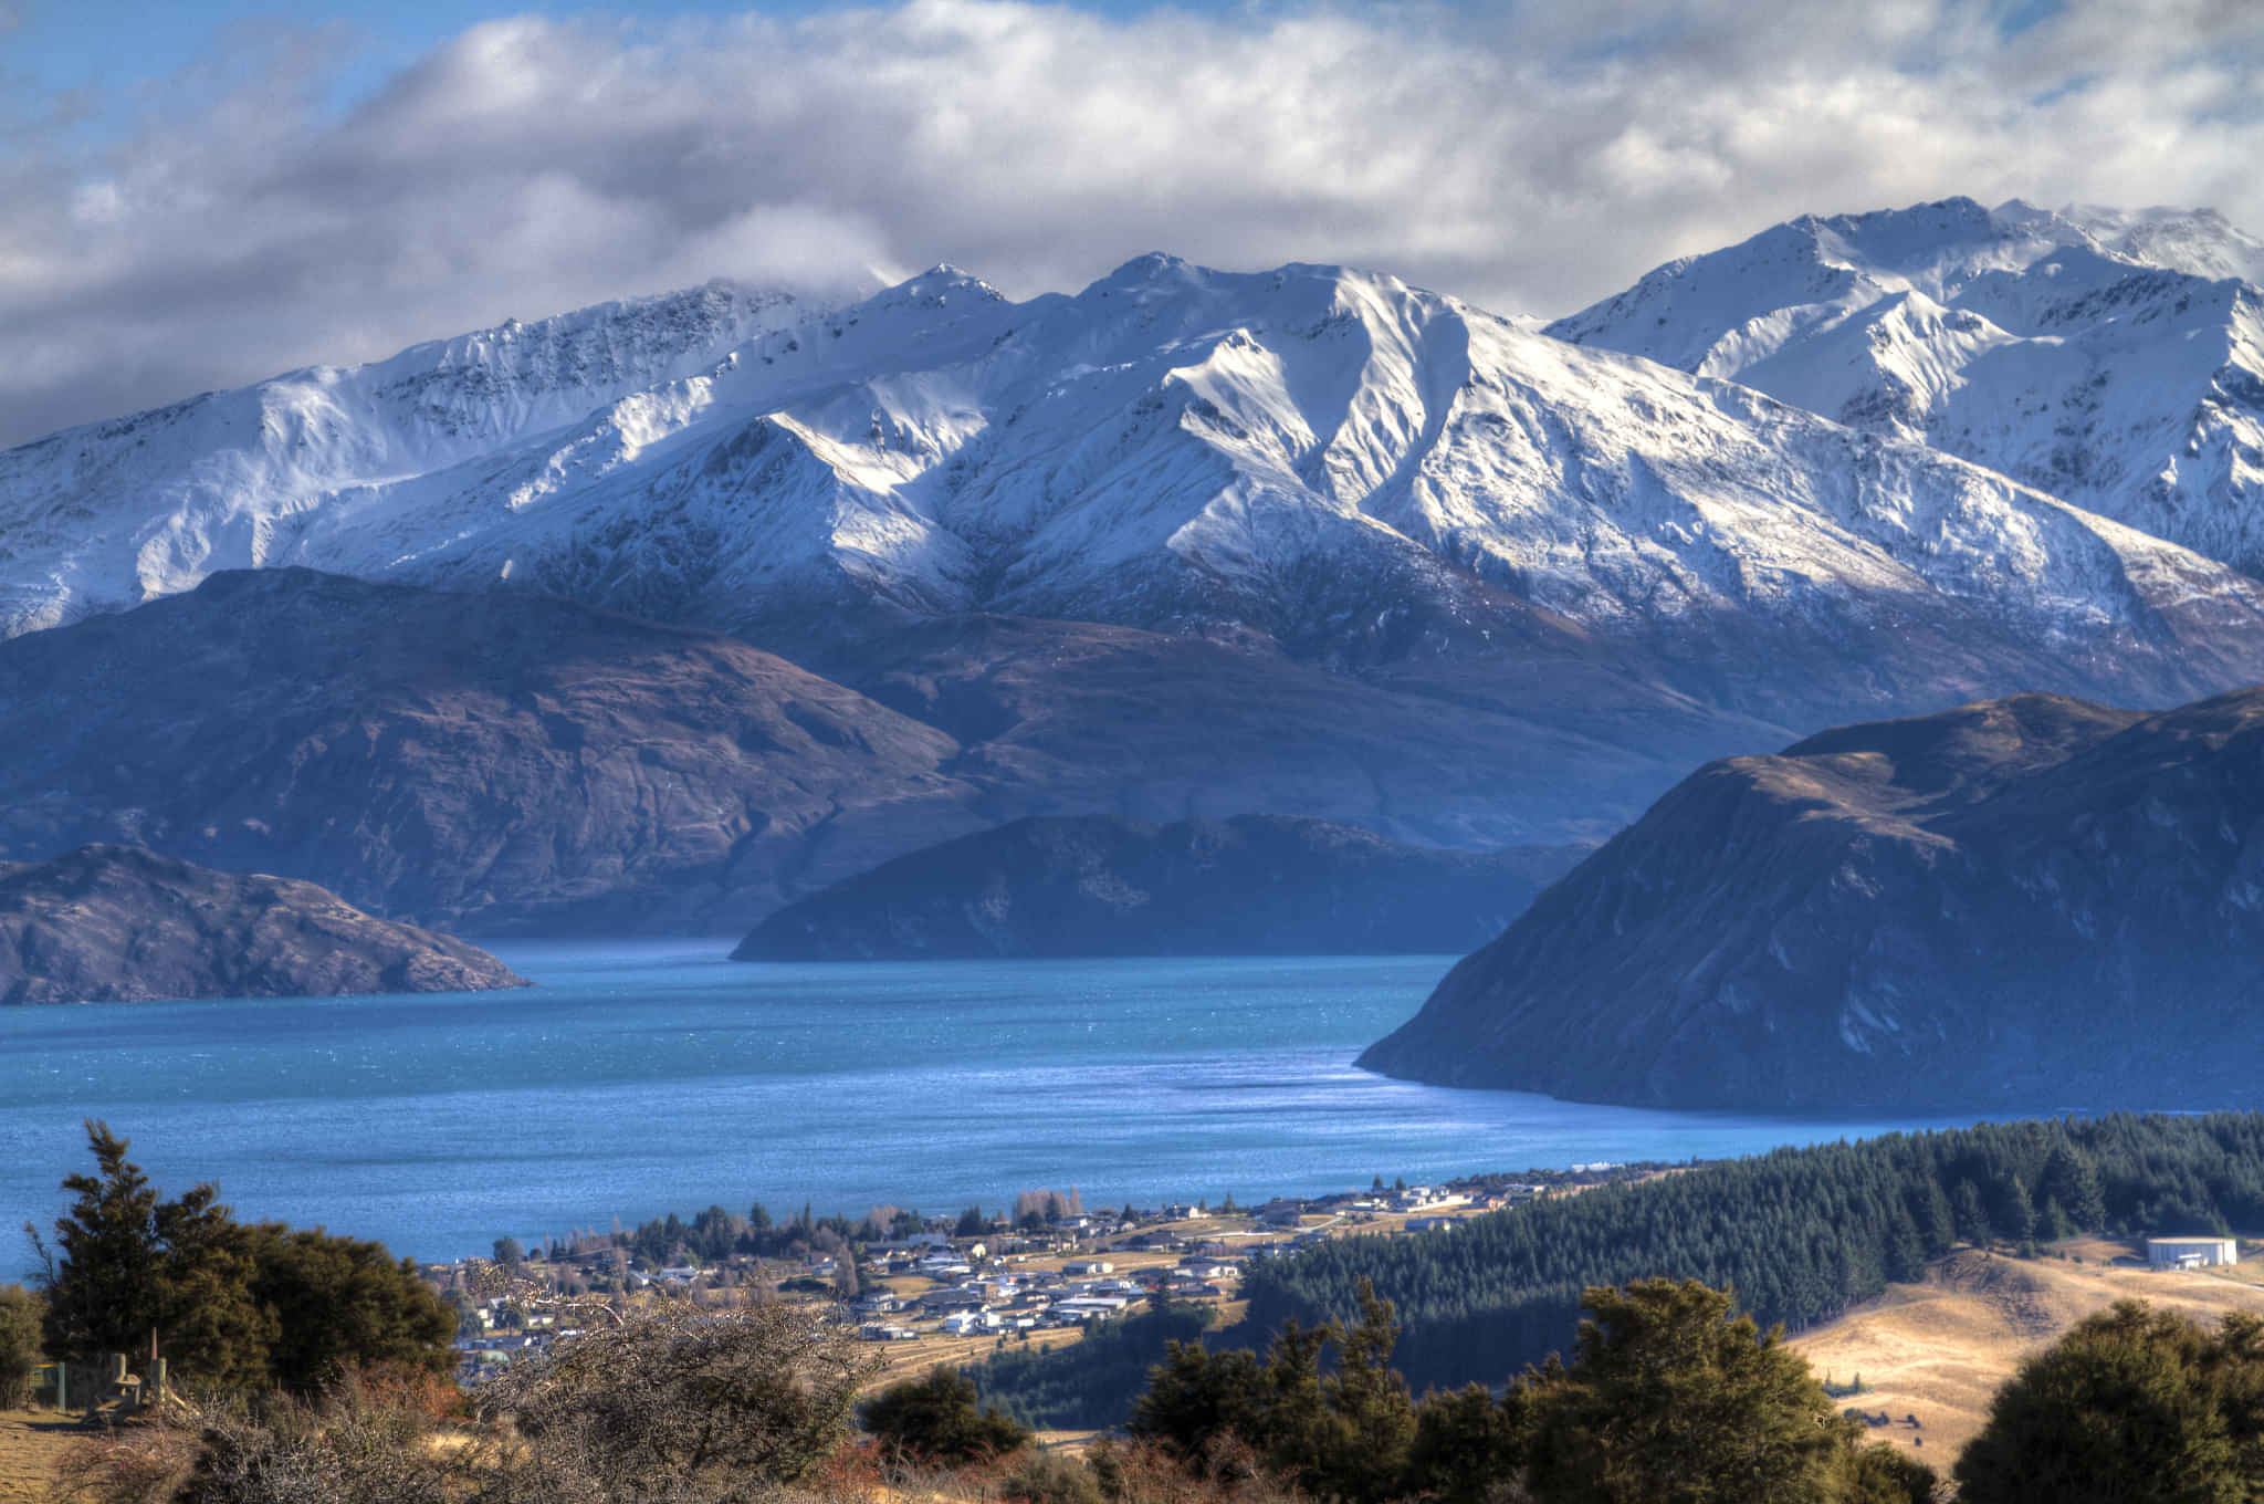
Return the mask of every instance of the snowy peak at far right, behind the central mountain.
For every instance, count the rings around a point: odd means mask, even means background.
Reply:
[[[1549,326],[2264,571],[2264,242],[2207,211],[1800,217]]]

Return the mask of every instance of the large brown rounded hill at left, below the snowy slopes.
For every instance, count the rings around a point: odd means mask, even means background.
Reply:
[[[484,933],[697,929],[980,824],[958,743],[745,643],[308,571],[7,643],[0,745],[5,856],[129,840]]]

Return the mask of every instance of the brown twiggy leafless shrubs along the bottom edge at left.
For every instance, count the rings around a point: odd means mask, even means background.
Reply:
[[[869,1361],[815,1311],[659,1307],[516,1364],[451,1425],[453,1384],[349,1377],[206,1398],[82,1447],[84,1504],[729,1504],[835,1454]]]

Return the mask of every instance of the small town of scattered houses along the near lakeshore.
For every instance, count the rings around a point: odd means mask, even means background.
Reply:
[[[1386,1187],[1379,1176],[1363,1191],[1275,1196],[1254,1207],[1229,1196],[1220,1205],[1087,1210],[1075,1189],[1039,1189],[1017,1196],[1012,1216],[874,1207],[854,1225],[808,1212],[781,1225],[761,1205],[749,1216],[711,1207],[691,1221],[668,1216],[537,1246],[498,1239],[496,1257],[430,1264],[426,1277],[457,1309],[464,1384],[657,1296],[824,1305],[856,1323],[863,1341],[887,1343],[881,1373],[894,1375],[974,1361],[1005,1343],[1071,1343],[1143,1302],[1209,1305],[1232,1323],[1252,1259],[1329,1237],[1442,1234],[1465,1216],[1655,1173],[1662,1167],[1592,1162],[1444,1185]]]

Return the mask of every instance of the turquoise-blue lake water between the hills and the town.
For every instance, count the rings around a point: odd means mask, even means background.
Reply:
[[[168,1194],[419,1259],[763,1200],[863,1216],[1252,1200],[1687,1160],[1920,1119],[1644,1112],[1352,1067],[1451,956],[767,965],[720,945],[498,945],[457,997],[0,1008],[0,1280],[106,1119]]]

